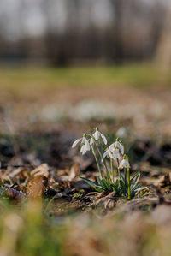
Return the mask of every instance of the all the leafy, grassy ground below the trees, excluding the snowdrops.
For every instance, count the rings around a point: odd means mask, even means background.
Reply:
[[[170,255],[171,87],[154,70],[1,69],[1,255]],[[96,163],[71,146],[97,125],[141,173],[131,201],[80,179]]]

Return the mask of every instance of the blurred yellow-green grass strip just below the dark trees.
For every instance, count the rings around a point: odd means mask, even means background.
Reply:
[[[163,86],[171,84],[171,74],[150,63],[82,68],[1,68],[4,90],[38,86]]]

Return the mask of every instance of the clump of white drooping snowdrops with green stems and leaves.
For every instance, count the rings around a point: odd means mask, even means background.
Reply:
[[[97,182],[81,177],[97,192],[115,191],[115,196],[133,199],[139,189],[140,173],[130,176],[130,164],[124,153],[124,146],[117,138],[110,146],[106,137],[96,128],[94,134],[83,134],[83,137],[74,141],[75,147],[80,144],[80,152],[85,155],[91,151],[97,163],[99,176]]]

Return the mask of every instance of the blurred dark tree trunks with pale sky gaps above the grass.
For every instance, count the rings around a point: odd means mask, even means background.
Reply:
[[[151,60],[161,51],[170,58],[162,45],[170,12],[169,0],[1,0],[0,59],[66,66]]]

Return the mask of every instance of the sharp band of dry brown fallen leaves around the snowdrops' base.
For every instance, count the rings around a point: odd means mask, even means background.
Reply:
[[[161,146],[161,148],[163,147]],[[134,152],[136,155],[137,150],[135,149]],[[143,156],[143,152],[141,153]],[[70,164],[69,168],[67,165],[63,169],[60,164],[57,168],[47,163],[40,164],[35,168],[32,168],[32,163],[23,164],[21,167],[10,164],[7,168],[2,166],[0,178],[1,191],[3,192],[1,193],[16,201],[43,198],[45,204],[48,204],[48,201],[53,198],[50,203],[53,205],[62,200],[66,203],[67,211],[70,208],[85,211],[87,207],[96,208],[99,205],[105,211],[110,211],[115,209],[118,204],[120,205],[122,199],[118,199],[115,193],[94,193],[93,189],[80,179],[82,172],[82,176],[85,178],[91,178],[92,181],[97,180],[97,170],[93,160],[86,157],[82,159],[79,156],[75,158],[74,155],[71,157],[70,163],[74,163],[75,159],[77,159],[76,164]],[[156,167],[146,158],[145,161],[133,164],[132,170],[133,173],[140,170],[142,174],[141,182],[144,184],[144,190],[139,192],[139,205],[141,202],[144,205],[144,202],[148,201],[151,205],[151,198],[158,205],[160,204],[160,196],[162,196],[164,204],[168,204],[171,199],[170,169],[165,166]],[[164,159],[162,165],[166,165],[165,162]],[[4,162],[3,165],[5,166]],[[130,204],[134,205],[135,203],[131,201]],[[50,209],[50,207],[49,205],[48,208]],[[57,211],[59,212],[59,210]]]

